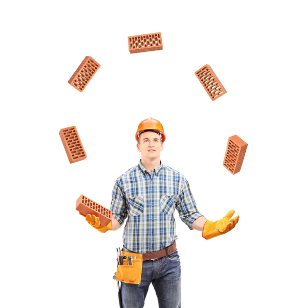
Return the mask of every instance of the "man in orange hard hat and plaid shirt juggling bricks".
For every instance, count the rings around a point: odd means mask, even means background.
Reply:
[[[232,218],[234,210],[230,210],[219,221],[209,221],[199,213],[186,178],[160,161],[166,138],[159,121],[143,120],[135,139],[141,160],[115,182],[110,207],[112,225],[101,225],[94,215],[88,215],[86,220],[104,233],[119,229],[127,218],[122,250],[143,254],[141,283],[121,282],[124,308],[143,307],[151,283],[159,308],[179,308],[181,266],[176,248],[175,209],[189,229],[202,231],[205,239],[230,231],[239,216]]]

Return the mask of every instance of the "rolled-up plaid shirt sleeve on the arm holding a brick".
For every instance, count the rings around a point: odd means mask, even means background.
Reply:
[[[123,224],[124,220],[127,218],[126,202],[123,196],[121,187],[118,182],[115,182],[112,191],[112,200],[110,205],[110,210],[112,211],[112,216],[120,223]]]

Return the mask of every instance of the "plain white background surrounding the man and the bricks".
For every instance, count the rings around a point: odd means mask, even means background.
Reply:
[[[298,16],[295,1],[11,1],[1,5],[1,297],[10,307],[118,307],[116,247],[75,210],[110,207],[137,165],[140,121],[162,122],[161,161],[183,174],[209,220],[235,209],[230,233],[204,240],[177,218],[182,307],[297,307]],[[163,50],[130,54],[127,36],[161,32]],[[81,93],[85,56],[101,67]],[[211,101],[195,71],[227,93]],[[59,137],[75,125],[87,159]],[[248,148],[222,165],[227,139]],[[145,308],[158,307],[153,287]],[[132,307],[134,308],[134,307]]]

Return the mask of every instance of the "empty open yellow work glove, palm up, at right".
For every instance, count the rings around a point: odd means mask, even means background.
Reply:
[[[231,209],[223,218],[217,221],[206,221],[203,230],[202,236],[206,240],[209,240],[213,237],[225,234],[233,229],[237,222],[239,221],[240,216],[231,218],[234,214],[234,209]]]

